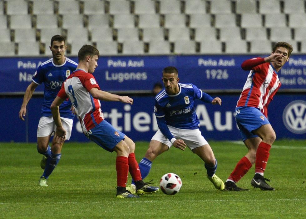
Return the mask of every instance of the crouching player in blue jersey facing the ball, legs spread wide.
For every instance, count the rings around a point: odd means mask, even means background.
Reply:
[[[200,121],[195,113],[195,100],[221,105],[219,97],[212,98],[193,84],[180,84],[178,71],[175,67],[163,70],[162,81],[165,89],[155,96],[154,112],[159,130],[152,137],[146,155],[139,163],[141,177],[144,179],[150,172],[152,162],[171,145],[180,150],[186,146],[198,155],[205,163],[208,179],[218,190],[224,189],[224,182],[215,175],[217,160],[215,155],[201,135]],[[132,182],[128,188],[135,192]]]

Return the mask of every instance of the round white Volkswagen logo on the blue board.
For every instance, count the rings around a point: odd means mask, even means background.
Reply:
[[[306,133],[306,101],[295,100],[289,103],[283,112],[283,122],[295,134]]]

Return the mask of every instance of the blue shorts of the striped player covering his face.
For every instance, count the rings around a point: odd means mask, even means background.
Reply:
[[[252,131],[262,125],[270,124],[264,114],[255,107],[237,107],[235,109],[235,118],[243,141],[258,137]]]

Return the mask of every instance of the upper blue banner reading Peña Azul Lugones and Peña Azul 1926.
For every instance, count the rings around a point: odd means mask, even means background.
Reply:
[[[241,69],[249,55],[177,55],[100,57],[94,72],[102,90],[125,93],[148,93],[161,82],[166,66],[179,70],[181,83],[193,83],[205,91],[241,91],[248,71]],[[76,57],[69,57],[77,62]],[[0,94],[21,93],[46,57],[0,58]],[[281,90],[306,92],[306,56],[292,55],[279,72]],[[43,91],[38,86],[37,91]]]

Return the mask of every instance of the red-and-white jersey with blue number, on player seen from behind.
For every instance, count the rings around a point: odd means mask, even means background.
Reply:
[[[104,120],[100,100],[93,98],[89,93],[92,88],[100,90],[95,77],[77,69],[66,79],[57,94],[62,99],[69,97],[79,117],[84,134]]]

